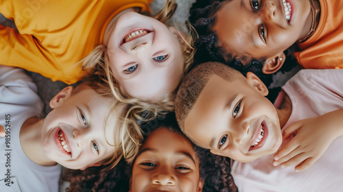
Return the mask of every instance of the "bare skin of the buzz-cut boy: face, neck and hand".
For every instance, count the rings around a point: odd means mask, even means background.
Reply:
[[[268,89],[253,73],[247,73],[246,80],[232,82],[213,75],[187,115],[184,132],[200,147],[239,162],[274,154],[283,139],[297,132],[273,162],[275,166],[296,166],[296,171],[310,167],[333,139],[343,135],[338,126],[343,123],[343,109],[296,121],[282,133],[292,102],[286,95],[283,108],[275,108],[266,95]]]

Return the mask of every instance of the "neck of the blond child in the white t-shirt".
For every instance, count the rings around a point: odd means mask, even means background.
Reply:
[[[32,117],[23,123],[19,133],[21,148],[25,152],[26,156],[38,165],[56,165],[56,162],[47,158],[43,151],[41,143],[43,122],[44,119],[40,120],[36,117]]]

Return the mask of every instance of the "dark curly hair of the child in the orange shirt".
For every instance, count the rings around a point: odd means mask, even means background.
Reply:
[[[216,61],[222,62],[237,71],[240,71],[244,76],[249,71],[255,73],[266,86],[270,86],[273,82],[273,74],[264,74],[262,67],[265,62],[265,58],[252,58],[251,56],[239,56],[237,54],[228,53],[223,47],[218,45],[218,39],[216,32],[213,31],[213,25],[215,23],[215,13],[220,10],[223,3],[232,0],[197,0],[193,3],[189,21],[191,25],[196,29],[198,33],[198,40],[196,42],[196,53],[194,55],[194,62],[196,64],[202,62]],[[229,23],[230,21],[228,21]],[[293,69],[298,62],[289,53],[289,50],[285,51],[286,60],[283,67],[279,69],[281,73],[285,73]],[[246,63],[243,65],[242,62]],[[193,64],[193,67],[196,65]],[[279,72],[278,71],[278,72]],[[278,88],[281,90],[281,88]],[[274,95],[269,95],[274,97]]]

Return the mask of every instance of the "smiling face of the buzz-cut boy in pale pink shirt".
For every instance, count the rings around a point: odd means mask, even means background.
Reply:
[[[240,162],[272,154],[282,135],[276,108],[264,95],[268,89],[252,73],[246,82],[213,75],[185,119],[185,134],[213,154]]]

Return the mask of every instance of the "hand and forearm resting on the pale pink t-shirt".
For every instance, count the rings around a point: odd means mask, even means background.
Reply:
[[[313,165],[333,140],[343,135],[343,108],[319,117],[302,119],[285,128],[283,139],[296,133],[274,156],[273,165],[303,171]]]

